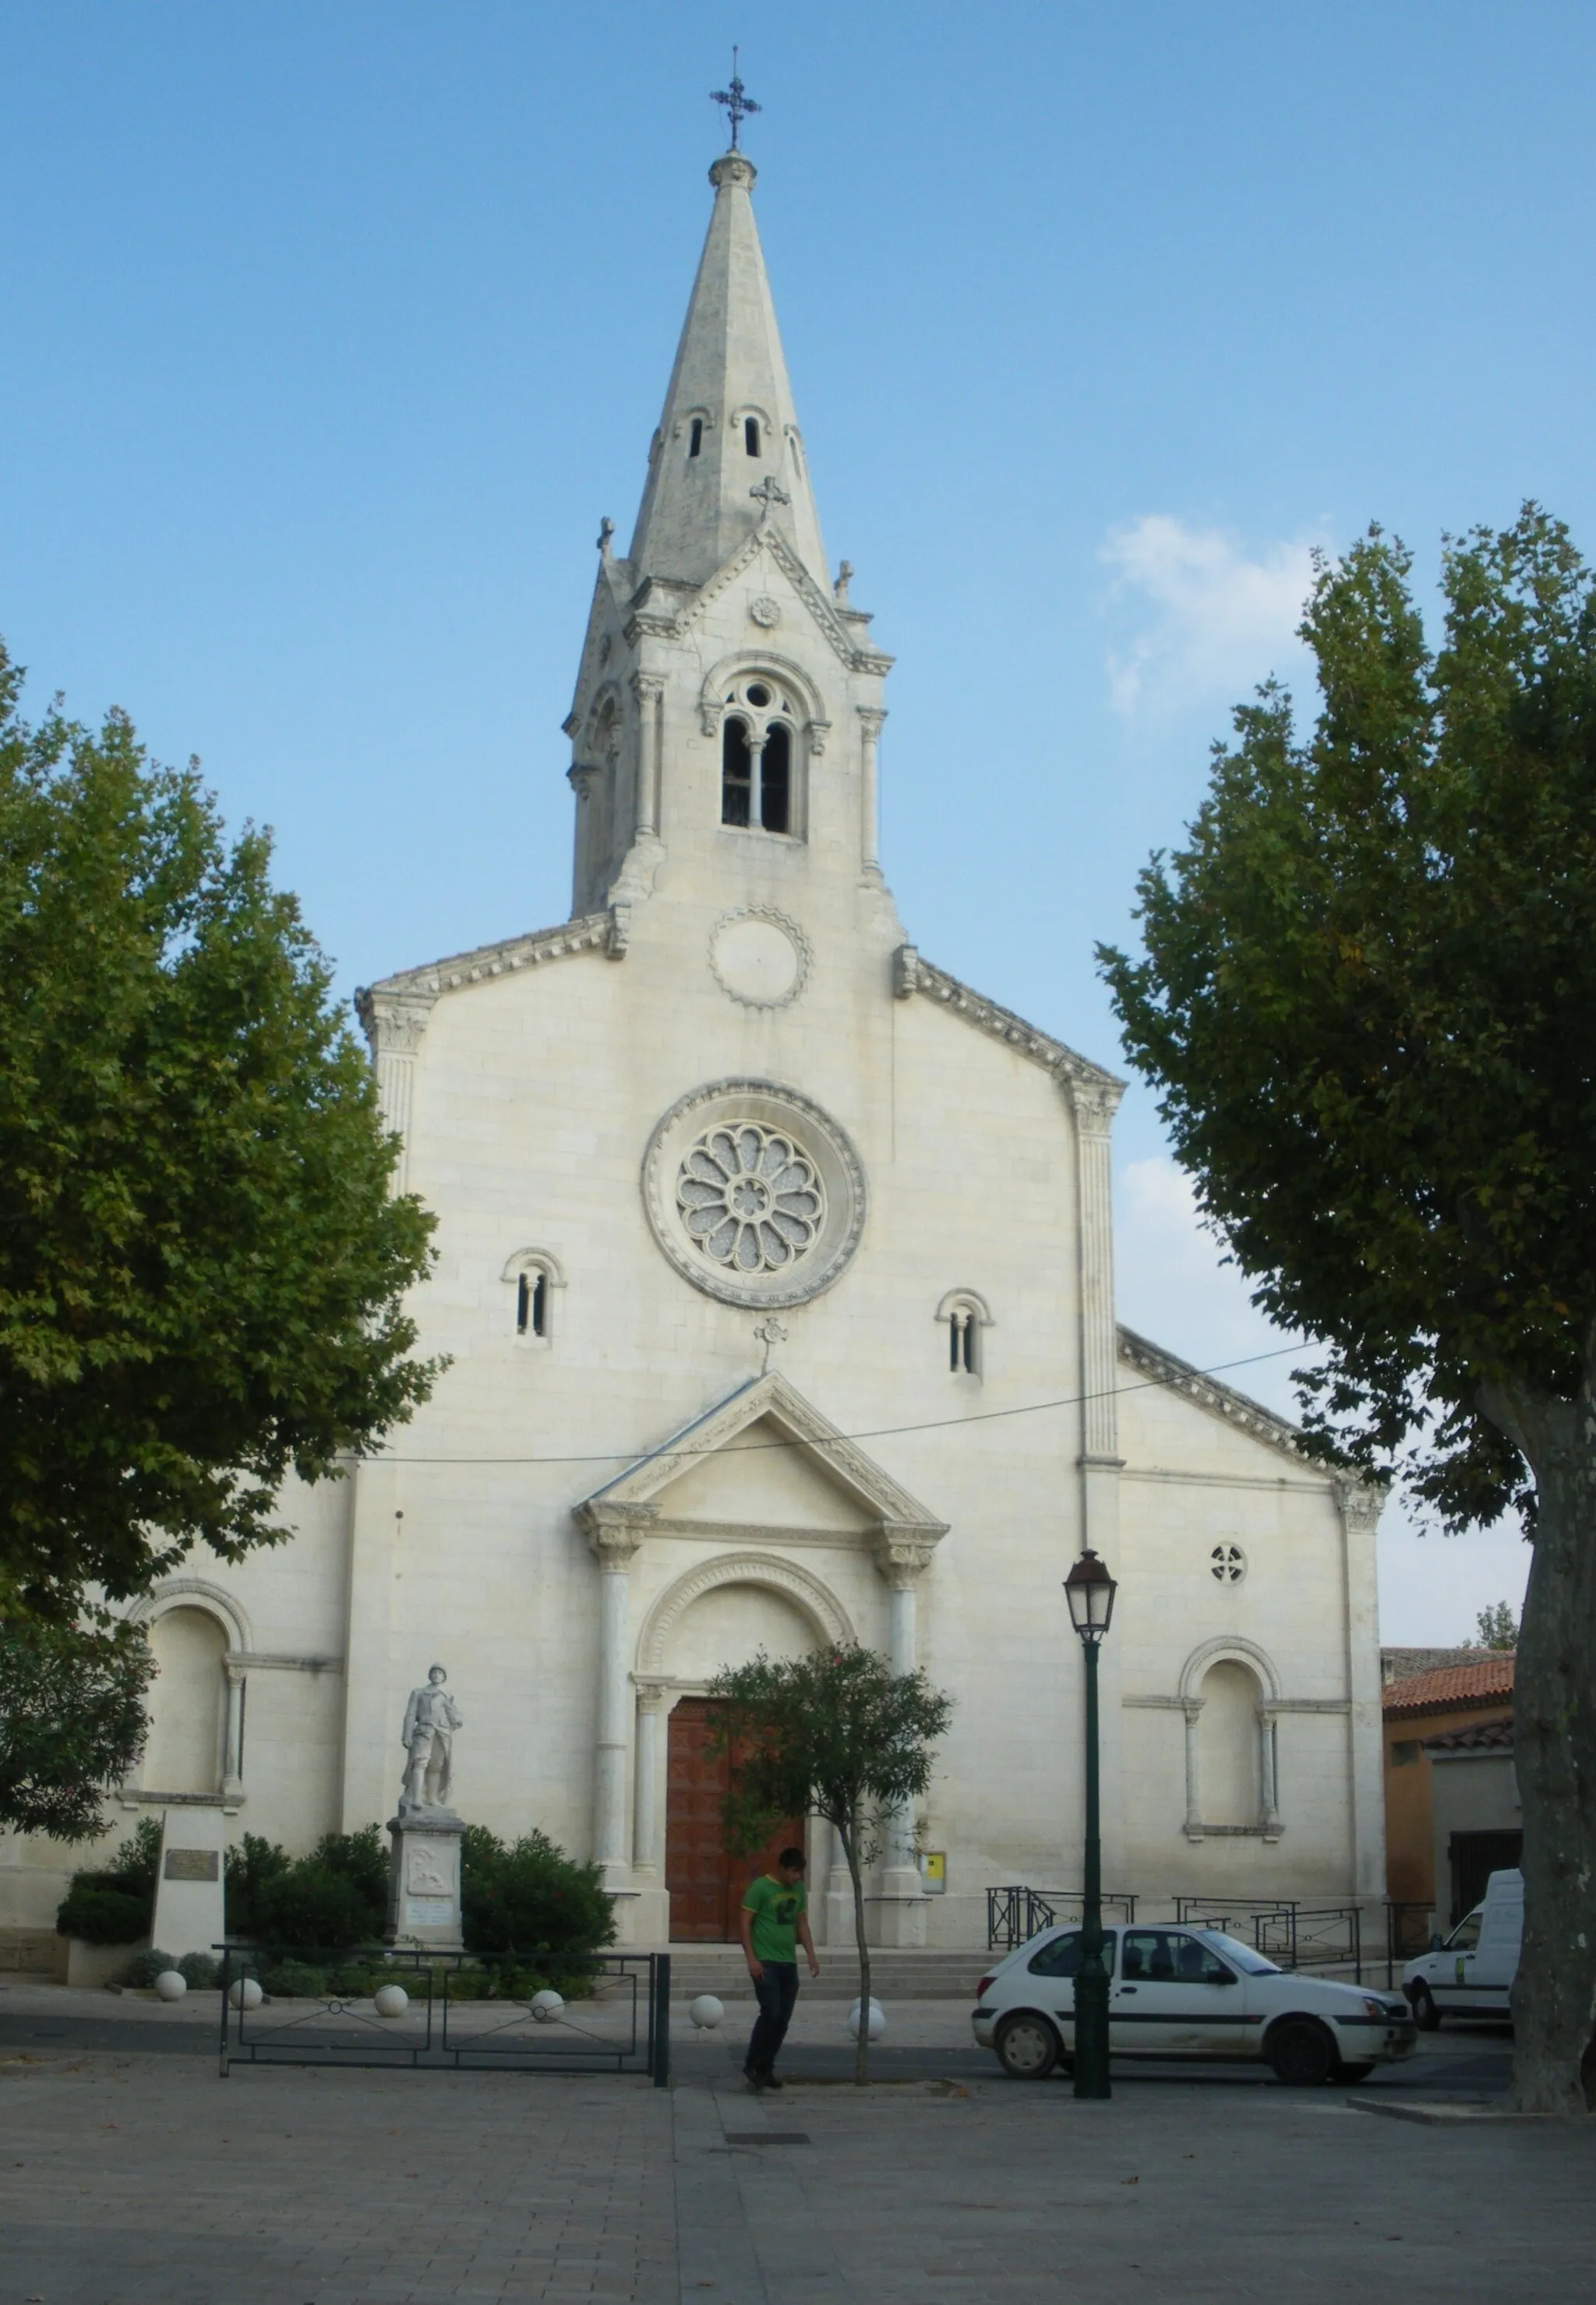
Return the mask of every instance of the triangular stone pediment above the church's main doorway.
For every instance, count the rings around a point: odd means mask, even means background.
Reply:
[[[597,1526],[671,1524],[708,1531],[793,1531],[840,1542],[902,1533],[946,1535],[874,1457],[865,1454],[780,1369],[639,1457],[577,1507]]]

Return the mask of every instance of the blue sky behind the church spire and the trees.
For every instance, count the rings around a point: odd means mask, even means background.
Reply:
[[[563,917],[731,39],[904,920],[1114,1063],[1093,940],[1301,678],[1310,549],[1596,542],[1587,5],[7,0],[0,632],[274,825],[346,989]],[[1139,1088],[1119,1157],[1126,1318],[1266,1348]],[[1522,1551],[1393,1524],[1386,1637]]]

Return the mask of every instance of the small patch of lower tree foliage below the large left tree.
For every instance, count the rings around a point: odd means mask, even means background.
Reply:
[[[143,1752],[155,1671],[138,1625],[0,1623],[0,1826],[88,1842]]]

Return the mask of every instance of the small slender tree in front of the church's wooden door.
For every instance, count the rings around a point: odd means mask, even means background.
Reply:
[[[722,1701],[713,1738],[731,1754],[727,1839],[759,1849],[786,1816],[823,1816],[853,1883],[860,2028],[853,2079],[869,2079],[869,1945],[865,1872],[890,1819],[932,1782],[932,1745],[953,1699],[925,1673],[895,1673],[872,1648],[823,1648],[727,1667],[710,1680]]]

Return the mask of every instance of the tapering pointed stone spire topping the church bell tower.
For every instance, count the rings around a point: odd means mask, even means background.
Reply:
[[[722,152],[715,210],[676,346],[630,560],[639,576],[706,583],[768,521],[826,581],[821,521],[754,226],[754,164]]]

